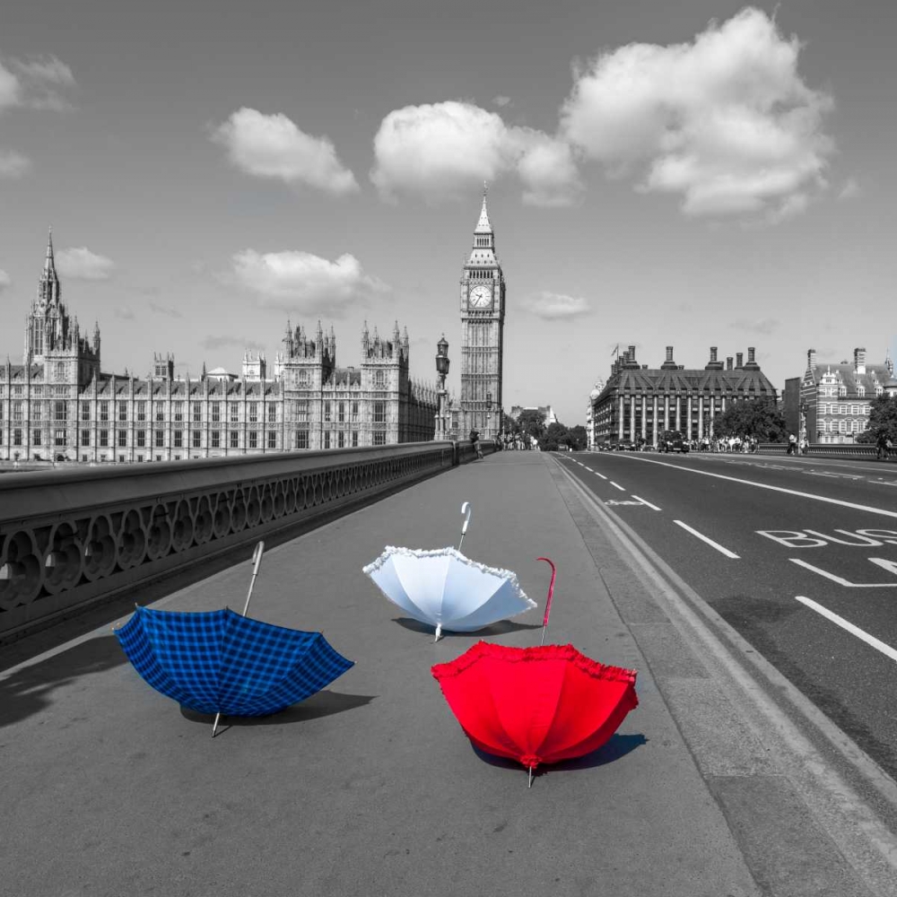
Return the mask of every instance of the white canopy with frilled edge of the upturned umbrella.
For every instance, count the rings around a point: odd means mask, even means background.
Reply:
[[[472,632],[536,607],[511,570],[471,561],[455,548],[388,545],[363,571],[405,614],[437,633]]]

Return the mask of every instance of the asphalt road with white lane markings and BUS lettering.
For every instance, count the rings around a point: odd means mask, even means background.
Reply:
[[[897,470],[739,454],[558,457],[897,779]]]

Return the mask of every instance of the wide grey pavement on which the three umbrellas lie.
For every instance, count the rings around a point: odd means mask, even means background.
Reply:
[[[434,645],[361,567],[387,544],[457,544],[463,501],[464,552],[515,570],[539,609]],[[897,841],[879,816],[826,771],[801,778],[816,754],[778,710],[764,729],[762,688],[635,551],[553,457],[530,452],[454,468],[281,544],[250,613],[323,631],[355,666],[214,740],[211,718],[135,674],[109,622],[46,650],[41,634],[39,653],[0,674],[0,894],[897,893]],[[475,753],[430,667],[481,637],[538,643],[540,555],[558,568],[548,640],[638,670],[640,705],[604,747],[528,789],[521,767]],[[248,553],[237,560],[154,606],[241,609]],[[7,658],[28,655],[22,642]]]

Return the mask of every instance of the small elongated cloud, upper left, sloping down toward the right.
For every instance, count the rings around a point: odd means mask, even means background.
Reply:
[[[231,162],[258,178],[305,184],[337,196],[352,193],[358,183],[336,157],[327,137],[305,134],[285,115],[264,115],[238,109],[214,128],[212,139],[222,144]]]

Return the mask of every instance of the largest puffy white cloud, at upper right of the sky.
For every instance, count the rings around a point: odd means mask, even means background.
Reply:
[[[612,176],[676,193],[690,215],[780,220],[825,187],[832,98],[797,74],[797,38],[747,8],[691,43],[630,44],[574,71],[561,132]]]

